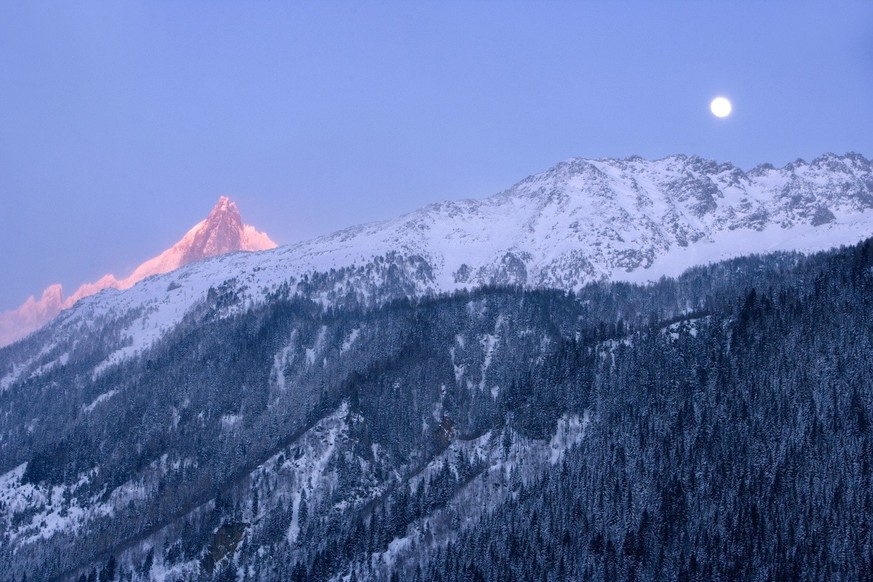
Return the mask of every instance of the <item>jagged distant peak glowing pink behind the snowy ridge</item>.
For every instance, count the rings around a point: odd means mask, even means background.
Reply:
[[[209,257],[275,247],[276,243],[266,233],[244,224],[236,204],[222,196],[205,220],[195,224],[179,242],[142,263],[126,278],[118,279],[107,274],[93,283],[85,283],[66,298],[60,285],[51,285],[43,291],[40,299],[31,296],[18,309],[0,312],[0,347],[39,329],[79,299],[103,289],[127,289],[146,277],[168,273]]]

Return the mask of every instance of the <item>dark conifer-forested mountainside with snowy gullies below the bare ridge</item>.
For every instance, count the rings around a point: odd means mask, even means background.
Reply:
[[[38,373],[11,346],[0,577],[863,578],[871,268],[328,307],[229,280],[114,366],[126,320]]]

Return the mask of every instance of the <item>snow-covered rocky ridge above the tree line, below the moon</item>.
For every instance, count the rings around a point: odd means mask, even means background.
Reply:
[[[684,155],[571,159],[490,198],[432,204],[104,291],[65,312],[41,341],[63,342],[124,317],[126,345],[109,365],[151,345],[226,281],[238,299],[233,309],[282,288],[328,303],[486,284],[577,289],[656,280],[749,253],[823,250],[871,233],[873,164],[859,154],[748,172]]]

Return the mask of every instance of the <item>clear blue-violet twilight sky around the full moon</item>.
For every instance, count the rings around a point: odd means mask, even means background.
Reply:
[[[221,194],[281,244],[572,156],[828,151],[873,156],[869,0],[0,0],[0,310]]]

